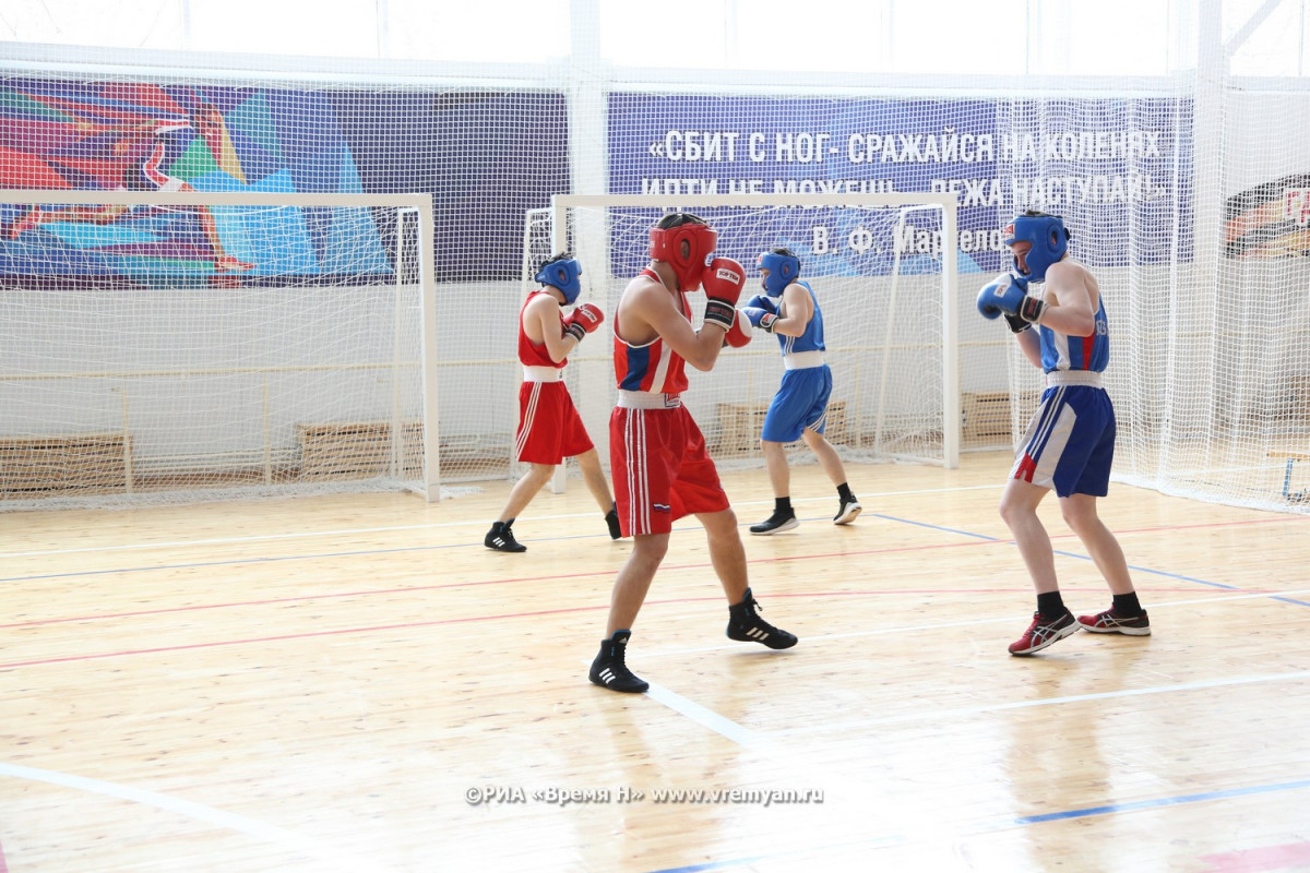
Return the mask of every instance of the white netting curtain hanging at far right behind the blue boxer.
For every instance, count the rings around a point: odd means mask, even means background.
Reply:
[[[1003,109],[1002,135],[1036,148],[1001,171],[1028,179],[1026,205],[1064,215],[1070,251],[1093,268],[1104,297],[1116,478],[1310,512],[1306,177],[1284,175],[1279,168],[1297,158],[1282,151],[1284,136],[1271,136],[1279,128],[1293,136],[1289,119],[1302,118],[1310,101],[1207,82],[1195,99]],[[1127,135],[1103,143],[1077,136],[1098,128]],[[1108,179],[1076,177],[1099,153],[1117,156],[1123,194]],[[1032,190],[1032,179],[1045,186]],[[1252,179],[1262,182],[1248,186]],[[1011,363],[1018,436],[1041,382],[1018,355]]]

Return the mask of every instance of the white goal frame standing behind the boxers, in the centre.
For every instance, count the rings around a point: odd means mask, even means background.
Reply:
[[[814,207],[848,207],[848,208],[871,208],[871,209],[897,209],[900,213],[900,223],[904,225],[905,216],[914,209],[939,209],[941,211],[941,284],[939,284],[939,297],[938,306],[941,308],[941,356],[942,356],[942,420],[941,438],[942,438],[942,457],[939,459],[922,458],[922,457],[905,457],[903,459],[920,461],[920,462],[939,462],[947,469],[955,469],[959,466],[960,455],[960,441],[962,441],[962,394],[960,394],[960,359],[959,359],[959,260],[958,260],[958,195],[947,192],[884,192],[884,194],[783,194],[783,195],[769,195],[769,194],[727,194],[727,195],[576,195],[576,194],[557,194],[552,196],[550,205],[545,209],[529,211],[528,224],[532,223],[532,213],[546,213],[549,215],[550,226],[550,245],[554,251],[563,251],[567,249],[574,250],[576,257],[584,264],[584,288],[587,287],[587,271],[595,271],[599,275],[609,275],[610,272],[610,259],[609,259],[609,246],[608,241],[603,238],[603,234],[593,234],[601,238],[587,238],[586,234],[578,233],[576,228],[571,226],[570,211],[574,209],[605,209],[605,208],[635,208],[635,209],[686,209],[696,212],[698,209],[714,209],[714,208],[766,208],[766,207],[794,207],[794,208],[814,208]],[[713,224],[713,221],[711,221]],[[527,293],[533,287],[531,283],[533,264],[532,258],[528,254],[528,237],[529,230],[525,228],[525,250],[524,250],[524,292]],[[722,247],[720,240],[720,247]],[[896,255],[897,264],[900,263],[900,251]],[[752,264],[747,264],[748,270],[753,268]],[[804,272],[804,271],[803,271]],[[804,277],[804,276],[803,276]],[[895,281],[896,276],[892,276],[893,288],[893,301],[895,301]],[[584,292],[586,293],[586,292]],[[617,304],[617,298],[610,301],[612,305]],[[612,314],[612,313],[610,313]],[[608,353],[608,348],[605,349]],[[886,369],[883,370],[883,387],[886,389]],[[880,397],[884,391],[880,393]],[[608,408],[597,408],[597,403],[601,402],[600,391],[580,391],[580,397],[575,394],[575,402],[582,411],[583,420],[591,432],[592,440],[596,442],[597,449],[601,452],[601,457],[608,457],[605,453],[605,446],[608,445],[608,429],[605,421],[608,420]],[[882,412],[879,411],[879,416]],[[895,452],[887,453],[884,457],[897,458]],[[557,470],[555,478],[553,480],[553,488],[559,491],[563,488],[563,469]]]

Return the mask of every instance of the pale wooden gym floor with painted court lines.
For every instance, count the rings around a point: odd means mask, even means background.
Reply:
[[[684,521],[590,685],[612,542],[578,482],[0,514],[0,873],[1310,869],[1310,518],[1112,486],[1154,636],[1005,647],[1003,454],[726,474],[764,616]],[[1076,611],[1110,603],[1044,514]]]

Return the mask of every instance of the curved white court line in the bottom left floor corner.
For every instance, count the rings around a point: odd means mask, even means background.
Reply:
[[[153,806],[166,813],[176,813],[178,815],[185,815],[187,818],[208,822],[211,825],[217,825],[219,827],[225,827],[228,830],[254,836],[265,840],[266,843],[271,843],[283,851],[310,857],[325,864],[328,869],[341,870],[342,873],[359,873],[360,870],[381,872],[385,869],[379,866],[375,861],[351,857],[333,846],[326,846],[318,840],[312,840],[292,831],[266,825],[263,822],[257,822],[252,818],[245,818],[244,815],[224,813],[220,809],[204,806],[203,804],[193,804],[191,801],[169,797],[168,794],[157,794],[152,791],[143,791],[140,788],[130,788],[127,785],[118,785],[115,783],[101,781],[98,779],[73,776],[71,774],[60,774],[52,770],[37,770],[35,767],[24,767],[21,764],[10,764],[5,762],[0,762],[0,776],[28,779],[31,781],[58,785],[60,788],[72,788],[76,791],[103,794],[105,797],[114,797],[117,800],[144,804],[145,806]]]

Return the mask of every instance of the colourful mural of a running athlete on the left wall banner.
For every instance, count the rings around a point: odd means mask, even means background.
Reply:
[[[255,89],[10,80],[0,88],[0,186],[362,192],[335,123],[321,123],[324,101],[301,98],[279,116]],[[13,276],[286,283],[390,271],[358,208],[0,207],[0,274]]]

